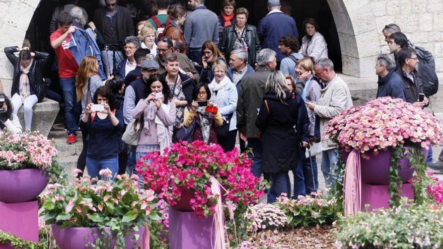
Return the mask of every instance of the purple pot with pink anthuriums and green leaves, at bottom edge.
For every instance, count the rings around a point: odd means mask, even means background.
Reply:
[[[102,178],[110,174],[100,172]],[[137,248],[146,222],[160,218],[154,191],[140,189],[138,180],[117,175],[115,181],[97,182],[85,176],[66,186],[49,185],[39,215],[52,224],[60,248]]]

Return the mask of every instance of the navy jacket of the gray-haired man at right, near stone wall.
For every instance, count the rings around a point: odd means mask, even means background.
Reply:
[[[380,78],[377,82],[379,88],[377,90],[377,98],[391,97],[393,99],[405,100],[405,87],[400,76],[395,73],[394,69],[389,71],[386,76]]]

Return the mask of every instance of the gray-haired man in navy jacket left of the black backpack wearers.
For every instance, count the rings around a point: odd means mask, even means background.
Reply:
[[[379,75],[377,98],[391,97],[405,100],[403,81],[395,73],[395,60],[390,54],[381,54],[376,60],[376,74]]]

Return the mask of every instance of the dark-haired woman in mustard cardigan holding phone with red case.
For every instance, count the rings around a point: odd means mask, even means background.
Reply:
[[[223,124],[220,112],[213,103],[208,102],[211,92],[206,84],[200,82],[192,93],[194,101],[191,110],[185,108],[184,126],[189,127],[195,122],[193,141],[202,140],[206,144],[218,143],[215,126]]]

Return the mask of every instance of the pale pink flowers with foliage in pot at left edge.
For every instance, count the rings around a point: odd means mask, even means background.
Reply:
[[[54,141],[37,132],[0,131],[0,170],[49,168],[56,156]]]

